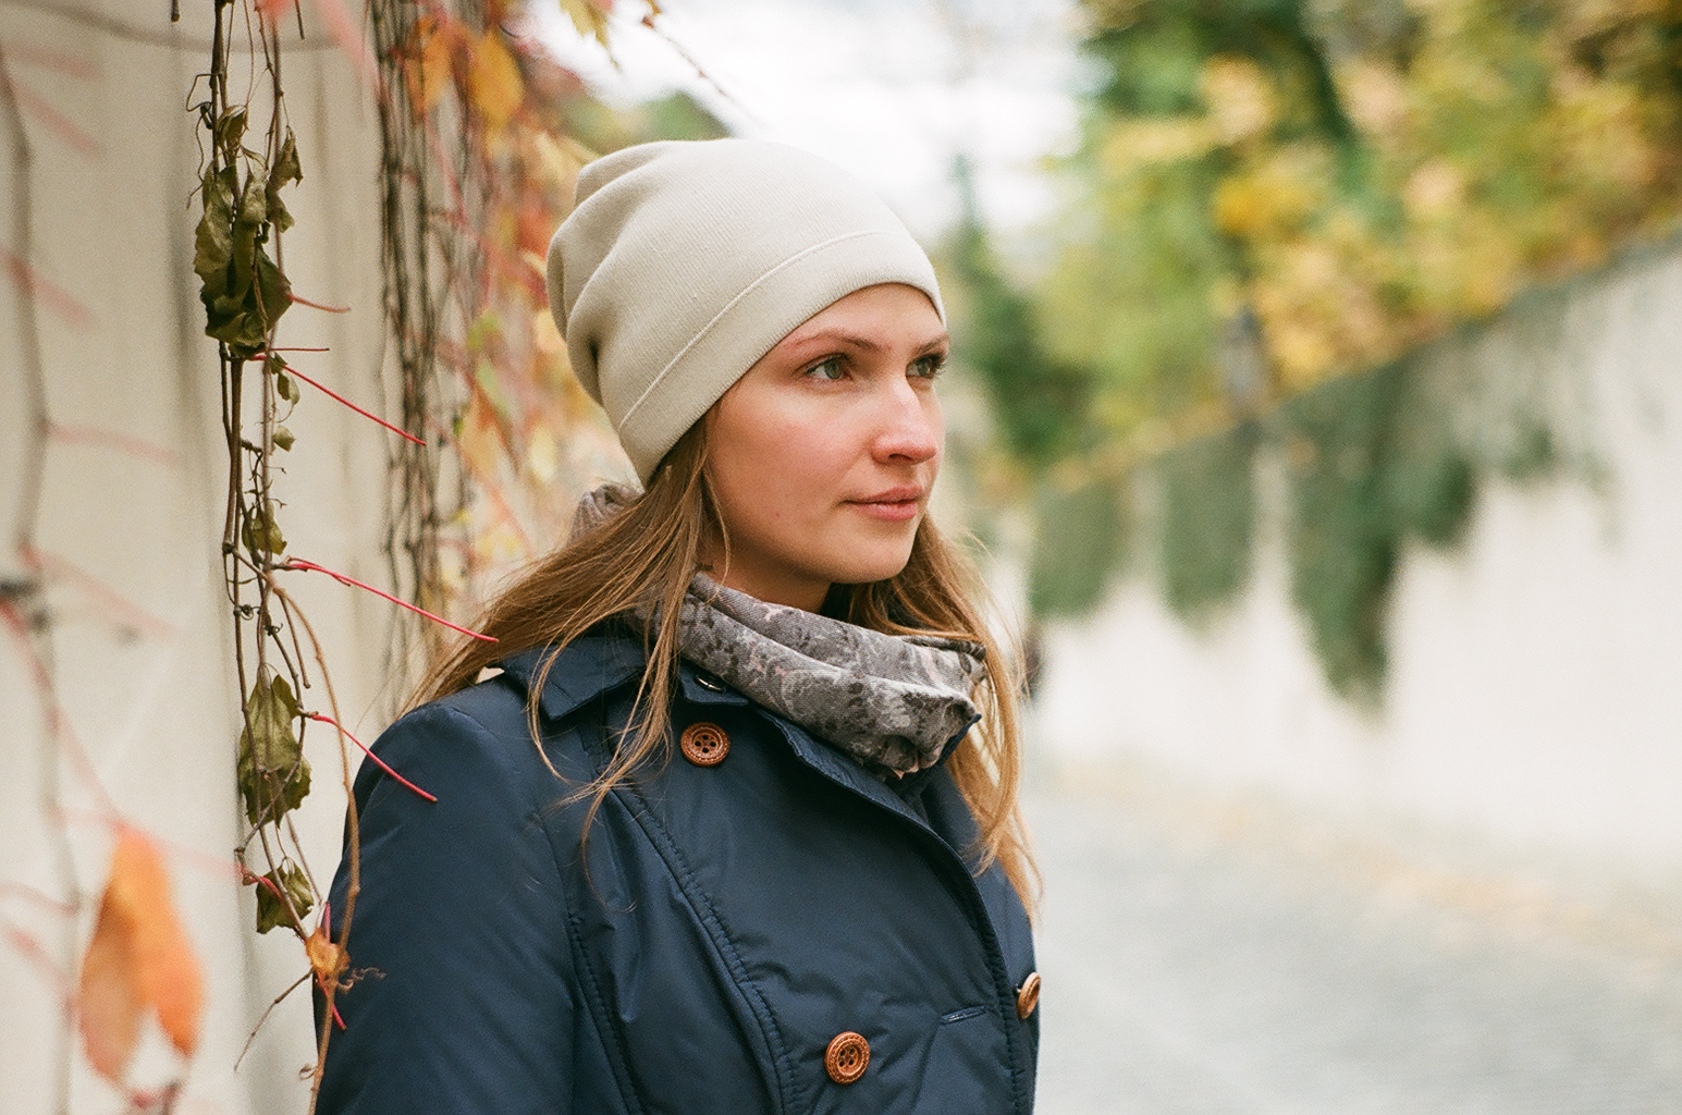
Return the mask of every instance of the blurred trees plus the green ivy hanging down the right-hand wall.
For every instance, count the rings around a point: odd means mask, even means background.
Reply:
[[[1082,7],[1050,266],[1023,296],[959,237],[965,353],[1041,479],[1033,604],[1085,610],[1149,547],[1206,617],[1248,579],[1270,446],[1327,681],[1374,698],[1401,547],[1457,542],[1480,476],[1558,464],[1531,402],[1478,436],[1404,353],[1675,229],[1682,0]]]

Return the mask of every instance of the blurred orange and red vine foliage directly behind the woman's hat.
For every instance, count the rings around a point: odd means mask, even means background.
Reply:
[[[562,0],[580,35],[606,44],[607,5]],[[654,24],[658,5],[646,24]],[[382,96],[382,261],[402,425],[387,553],[404,595],[469,616],[483,587],[552,545],[589,476],[617,447],[567,365],[548,316],[543,254],[595,151],[592,103],[528,35],[523,0],[415,5],[372,0]],[[622,136],[688,138],[710,123]],[[442,452],[451,446],[452,452]],[[441,647],[404,627],[395,666]]]

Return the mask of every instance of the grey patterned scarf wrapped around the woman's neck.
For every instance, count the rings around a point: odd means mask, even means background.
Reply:
[[[579,506],[575,528],[600,523],[631,498],[624,488],[597,488]],[[883,634],[765,604],[705,573],[683,600],[678,651],[876,774],[935,765],[979,718],[974,690],[986,676],[976,642]]]

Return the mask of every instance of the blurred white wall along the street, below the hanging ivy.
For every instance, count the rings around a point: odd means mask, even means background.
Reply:
[[[1404,552],[1378,715],[1322,681],[1263,461],[1243,597],[1194,632],[1135,575],[1055,624],[1036,745],[1682,876],[1682,247],[1532,296],[1423,370],[1473,422],[1497,412],[1478,399],[1542,400],[1600,479],[1492,481],[1462,548]]]

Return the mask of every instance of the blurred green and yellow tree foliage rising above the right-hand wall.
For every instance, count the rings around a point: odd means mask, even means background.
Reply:
[[[1670,229],[1677,0],[1087,0],[1102,84],[1036,308],[1092,415],[1219,415],[1396,357]]]

